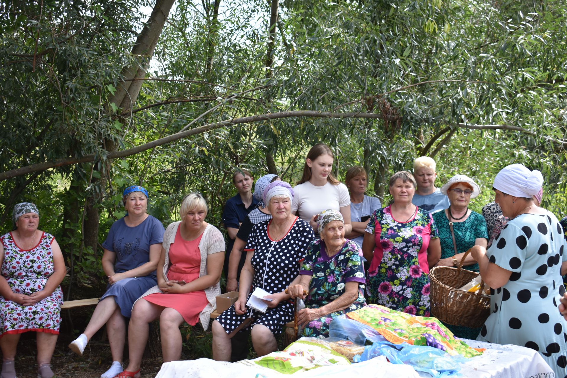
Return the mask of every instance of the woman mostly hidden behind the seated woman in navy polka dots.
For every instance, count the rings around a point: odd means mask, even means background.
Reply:
[[[252,196],[258,202],[258,207],[248,213],[248,216],[242,221],[242,224],[238,229],[238,233],[236,233],[236,239],[234,239],[234,244],[232,245],[229,257],[229,274],[226,277],[226,291],[238,290],[240,271],[244,266],[242,252],[246,246],[248,235],[250,235],[250,232],[252,231],[252,226],[256,223],[264,222],[264,220],[272,219],[272,215],[269,210],[266,209],[266,204],[262,199],[262,193],[270,182],[278,180],[281,181],[280,176],[269,174],[260,177],[254,185],[254,193]]]

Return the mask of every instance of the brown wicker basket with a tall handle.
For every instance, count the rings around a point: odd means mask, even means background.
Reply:
[[[464,254],[461,264],[470,249]],[[459,290],[479,273],[458,267],[435,266],[429,271],[431,316],[445,324],[481,327],[490,315],[490,295],[483,293],[484,282],[478,292]]]

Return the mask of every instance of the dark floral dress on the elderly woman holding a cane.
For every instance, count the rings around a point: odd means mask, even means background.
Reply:
[[[312,320],[303,329],[302,336],[328,337],[329,324],[337,316],[357,310],[366,305],[364,300],[364,267],[361,262],[361,249],[352,240],[346,243],[334,256],[329,257],[325,242],[315,240],[309,246],[299,274],[310,275],[309,292],[305,298],[308,308],[319,308],[331,303],[344,294],[347,282],[358,282],[358,298],[342,311],[332,312]]]

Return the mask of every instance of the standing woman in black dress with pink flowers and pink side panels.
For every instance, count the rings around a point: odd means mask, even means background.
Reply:
[[[390,178],[390,206],[370,216],[362,251],[370,268],[367,299],[412,315],[429,316],[429,269],[441,258],[433,217],[412,204],[416,181],[401,171]]]

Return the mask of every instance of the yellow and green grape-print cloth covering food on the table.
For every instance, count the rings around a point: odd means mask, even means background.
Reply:
[[[460,354],[470,358],[481,355],[484,349],[471,348],[456,338],[441,321],[435,317],[415,316],[395,311],[378,304],[346,314],[350,319],[371,326],[387,341],[393,344],[408,343],[427,345],[446,351],[450,355]]]

